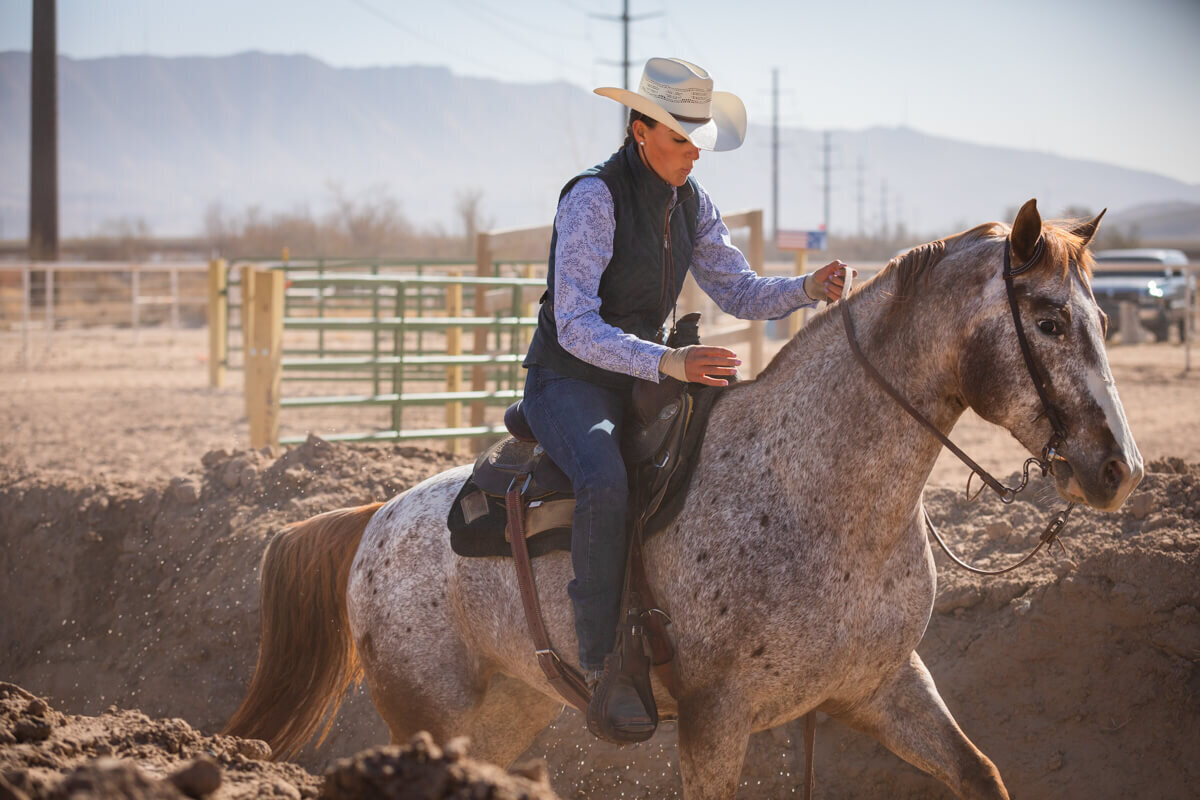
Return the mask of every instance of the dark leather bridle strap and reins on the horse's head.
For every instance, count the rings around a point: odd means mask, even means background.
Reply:
[[[911,417],[917,420],[917,422],[923,425],[930,433],[932,433],[934,437],[936,437],[937,440],[941,441],[950,452],[958,456],[959,461],[961,461],[971,469],[971,477],[978,475],[980,480],[989,488],[991,488],[994,492],[996,492],[996,494],[1000,495],[1001,501],[1006,505],[1013,503],[1013,500],[1016,499],[1018,493],[1020,493],[1026,488],[1026,486],[1030,482],[1030,468],[1032,465],[1037,464],[1038,467],[1040,467],[1042,475],[1045,476],[1054,469],[1054,463],[1056,461],[1066,462],[1066,459],[1058,455],[1057,449],[1066,440],[1067,429],[1062,423],[1062,417],[1060,416],[1057,408],[1054,405],[1054,403],[1050,402],[1050,396],[1045,387],[1045,379],[1042,377],[1042,371],[1038,369],[1037,362],[1033,360],[1033,351],[1031,350],[1028,339],[1025,336],[1025,329],[1021,326],[1021,312],[1019,306],[1016,305],[1016,293],[1013,288],[1013,277],[1030,270],[1030,267],[1032,267],[1038,261],[1038,259],[1042,258],[1044,247],[1045,247],[1044,237],[1038,237],[1037,243],[1033,246],[1033,253],[1030,255],[1028,260],[1026,260],[1019,267],[1013,269],[1009,255],[1009,251],[1012,249],[1012,241],[1008,237],[1004,239],[1004,272],[1003,272],[1004,289],[1008,294],[1008,306],[1013,312],[1013,324],[1016,326],[1016,341],[1020,344],[1021,355],[1025,359],[1025,367],[1030,373],[1030,378],[1033,380],[1033,387],[1037,390],[1038,398],[1042,402],[1042,413],[1050,422],[1050,427],[1054,431],[1050,435],[1049,441],[1046,441],[1045,446],[1042,449],[1042,456],[1027,458],[1025,461],[1021,482],[1016,487],[1004,486],[998,480],[996,480],[990,473],[988,473],[988,470],[985,470],[974,461],[972,461],[970,456],[962,452],[962,450],[959,449],[958,445],[955,445],[953,441],[950,441],[950,439],[946,434],[938,431],[937,427],[932,422],[930,422],[929,419],[925,417],[925,415],[923,415],[920,411],[913,408],[912,403],[905,399],[904,396],[900,395],[900,392],[896,391],[896,389],[892,384],[889,384],[882,374],[880,374],[880,371],[876,369],[875,366],[866,360],[866,356],[863,354],[862,348],[858,345],[858,339],[854,335],[854,323],[850,317],[848,303],[846,302],[841,303],[841,319],[846,327],[846,338],[850,341],[850,348],[854,354],[854,359],[863,367],[863,371],[866,372],[866,374],[870,375],[876,384],[878,384],[880,389],[882,389],[888,395],[888,397],[895,401],[895,403],[900,408],[902,408]],[[967,480],[968,489],[970,485],[971,481],[968,479]],[[974,499],[974,497],[978,497],[978,493],[976,493],[976,495],[973,495],[971,499]],[[934,527],[934,521],[929,517],[929,511],[924,506],[922,506],[922,512],[924,513],[925,527],[929,529],[929,533],[934,535],[934,539],[937,541],[938,546],[941,546],[942,551],[944,551],[946,554],[950,558],[950,560],[953,560],[958,566],[962,567],[964,570],[970,570],[971,572],[978,575],[1003,575],[1004,572],[1012,572],[1019,566],[1022,566],[1026,563],[1028,563],[1030,559],[1032,559],[1034,555],[1038,554],[1038,551],[1040,551],[1050,542],[1058,542],[1058,547],[1063,547],[1062,542],[1058,541],[1057,537],[1058,534],[1062,533],[1062,529],[1067,525],[1067,518],[1070,516],[1070,512],[1074,507],[1075,504],[1069,503],[1066,509],[1060,511],[1050,519],[1045,529],[1042,531],[1042,537],[1038,541],[1037,547],[1034,547],[1028,555],[1019,560],[1016,564],[1013,564],[1010,566],[1000,570],[982,570],[960,559],[950,551],[946,541],[942,539],[942,535],[937,531],[937,528]],[[1063,551],[1066,551],[1066,548],[1063,548]]]

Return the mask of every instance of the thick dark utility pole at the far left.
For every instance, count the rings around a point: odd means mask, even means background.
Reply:
[[[59,259],[59,92],[55,0],[34,0],[29,58],[29,258]]]

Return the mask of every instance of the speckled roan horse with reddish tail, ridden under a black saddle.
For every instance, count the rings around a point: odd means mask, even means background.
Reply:
[[[1141,479],[1090,289],[1097,219],[1012,230],[1021,319],[1067,426],[1062,497],[1116,509]],[[846,301],[878,369],[949,432],[972,408],[1031,452],[1050,438],[1018,347],[1001,266],[1007,225],[986,224],[892,263]],[[965,798],[1007,798],[916,652],[936,571],[922,488],[941,445],[856,363],[836,314],[818,314],[763,374],[716,403],[691,493],[648,542],[674,619],[679,768],[689,800],[734,796],[749,735],[811,709],[878,739]],[[230,730],[288,753],[365,673],[391,730],[510,763],[559,714],[534,660],[512,565],[450,551],[446,512],[469,467],[383,506],[316,517],[264,557],[263,642]],[[535,560],[547,628],[576,650],[566,553]],[[326,728],[328,729],[328,728]]]

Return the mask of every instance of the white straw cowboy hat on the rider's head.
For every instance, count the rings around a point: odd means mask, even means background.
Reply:
[[[746,138],[746,107],[737,95],[713,91],[713,78],[683,59],[650,59],[637,91],[595,92],[662,122],[701,150],[736,150]]]

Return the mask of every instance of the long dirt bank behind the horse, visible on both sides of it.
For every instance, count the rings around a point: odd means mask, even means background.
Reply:
[[[194,470],[149,486],[0,463],[0,679],[100,715],[98,726],[120,718],[103,714],[116,704],[218,730],[253,669],[257,570],[271,534],[384,499],[451,464],[437,451],[319,439],[277,457],[210,452]],[[1062,504],[1042,481],[1010,506],[989,494],[965,504],[947,489],[930,489],[926,505],[960,554],[995,567],[1032,547]],[[1200,780],[1192,758],[1200,750],[1200,465],[1151,463],[1121,511],[1075,510],[1063,541],[1066,553],[1054,548],[1000,578],[958,571],[938,553],[920,654],[1014,795],[1187,796]],[[176,723],[185,726],[162,724]],[[862,734],[829,720],[818,732],[823,798],[949,796]],[[319,771],[386,739],[360,691],[325,747],[298,763]],[[791,793],[799,744],[792,724],[756,735],[742,795]],[[0,754],[22,746],[0,744]],[[211,745],[187,747],[199,754]],[[354,769],[382,774],[384,756],[361,756]],[[668,724],[649,742],[617,748],[590,741],[570,711],[526,756],[545,757],[563,796],[679,792]]]

